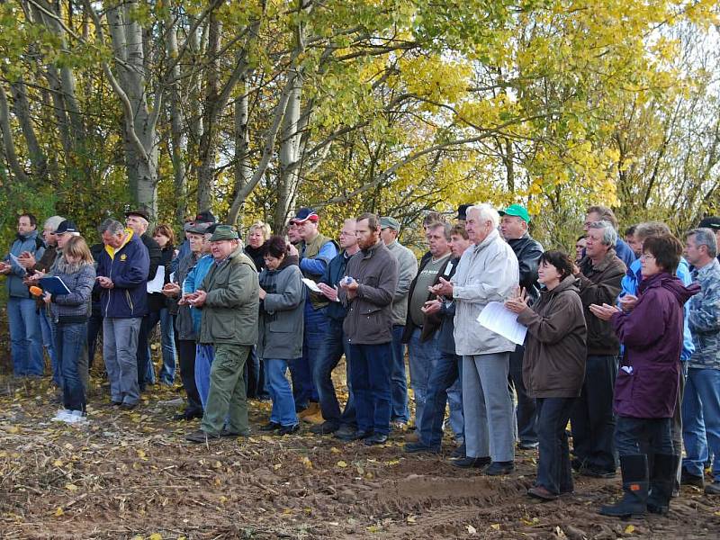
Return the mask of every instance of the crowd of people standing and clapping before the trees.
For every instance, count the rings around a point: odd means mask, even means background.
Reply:
[[[395,429],[408,454],[439,454],[449,434],[452,464],[491,476],[537,449],[539,500],[572,493],[573,470],[612,478],[619,464],[624,496],[600,509],[609,516],[666,513],[680,484],[720,495],[720,218],[684,242],[654,221],[623,239],[613,211],[590,206],[572,257],[545,251],[530,222],[519,204],[429,212],[418,261],[399,221],[372,213],[344,220],[336,241],[302,208],[283,235],[254,223],[244,245],[203,211],[176,245],[166,224],[148,234],[139,209],[104,220],[94,246],[59,216],[40,238],[25,213],[0,263],[14,375],[42,376],[44,347],[62,403],[53,420],[86,422],[102,330],[108,406],[132,410],[148,384],[174,384],[177,359],[175,419],[201,419],[192,443],[249,435],[251,397],[272,401],[267,433],[306,420],[374,446]],[[523,344],[481,324],[491,302],[527,328]],[[343,357],[344,406],[332,378]]]

